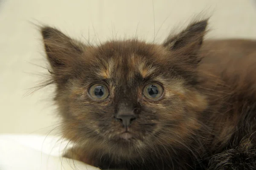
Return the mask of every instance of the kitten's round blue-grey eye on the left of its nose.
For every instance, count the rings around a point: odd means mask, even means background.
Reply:
[[[104,100],[108,98],[108,88],[103,84],[93,84],[89,89],[89,95],[95,100]]]

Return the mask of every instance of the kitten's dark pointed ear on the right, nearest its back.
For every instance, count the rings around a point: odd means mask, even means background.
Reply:
[[[208,19],[189,24],[179,34],[168,37],[163,46],[181,55],[195,55],[203,43],[207,23]]]

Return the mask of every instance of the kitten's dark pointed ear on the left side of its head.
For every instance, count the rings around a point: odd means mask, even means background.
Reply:
[[[44,48],[53,72],[72,67],[85,46],[52,27],[41,27]]]

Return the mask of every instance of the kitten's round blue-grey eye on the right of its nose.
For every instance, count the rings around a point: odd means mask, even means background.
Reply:
[[[143,89],[143,95],[152,100],[156,100],[163,95],[163,87],[160,84],[148,84]]]

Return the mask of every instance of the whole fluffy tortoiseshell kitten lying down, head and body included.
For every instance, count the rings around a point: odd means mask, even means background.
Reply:
[[[67,157],[128,170],[256,169],[256,41],[204,40],[208,20],[163,44],[89,46],[42,27]]]

